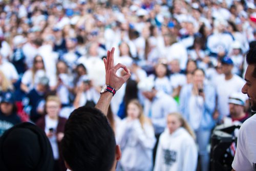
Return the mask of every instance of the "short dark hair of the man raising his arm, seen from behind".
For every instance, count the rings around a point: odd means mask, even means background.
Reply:
[[[65,125],[61,150],[65,161],[76,170],[110,170],[116,141],[106,117],[96,108],[74,110]]]

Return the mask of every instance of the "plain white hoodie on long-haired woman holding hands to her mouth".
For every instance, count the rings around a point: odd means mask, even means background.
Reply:
[[[139,119],[121,121],[117,130],[117,144],[120,145],[122,157],[119,162],[122,169],[128,170],[152,170],[153,148],[156,138],[154,127],[144,123],[143,129]]]

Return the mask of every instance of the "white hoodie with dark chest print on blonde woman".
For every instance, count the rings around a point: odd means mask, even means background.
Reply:
[[[197,158],[196,143],[183,127],[173,134],[165,129],[159,138],[154,171],[193,171]]]

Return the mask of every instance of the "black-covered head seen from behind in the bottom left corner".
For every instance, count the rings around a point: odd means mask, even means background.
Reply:
[[[53,170],[52,147],[44,131],[25,122],[13,126],[0,138],[0,168],[7,170]]]

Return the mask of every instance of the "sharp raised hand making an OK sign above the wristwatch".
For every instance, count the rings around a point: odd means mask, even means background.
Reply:
[[[113,87],[116,91],[119,90],[123,83],[130,78],[130,70],[126,66],[118,63],[114,66],[114,52],[115,48],[112,48],[111,51],[108,51],[106,58],[103,59],[106,71],[106,84]],[[122,68],[126,73],[124,76],[119,77],[116,72],[118,69]]]

